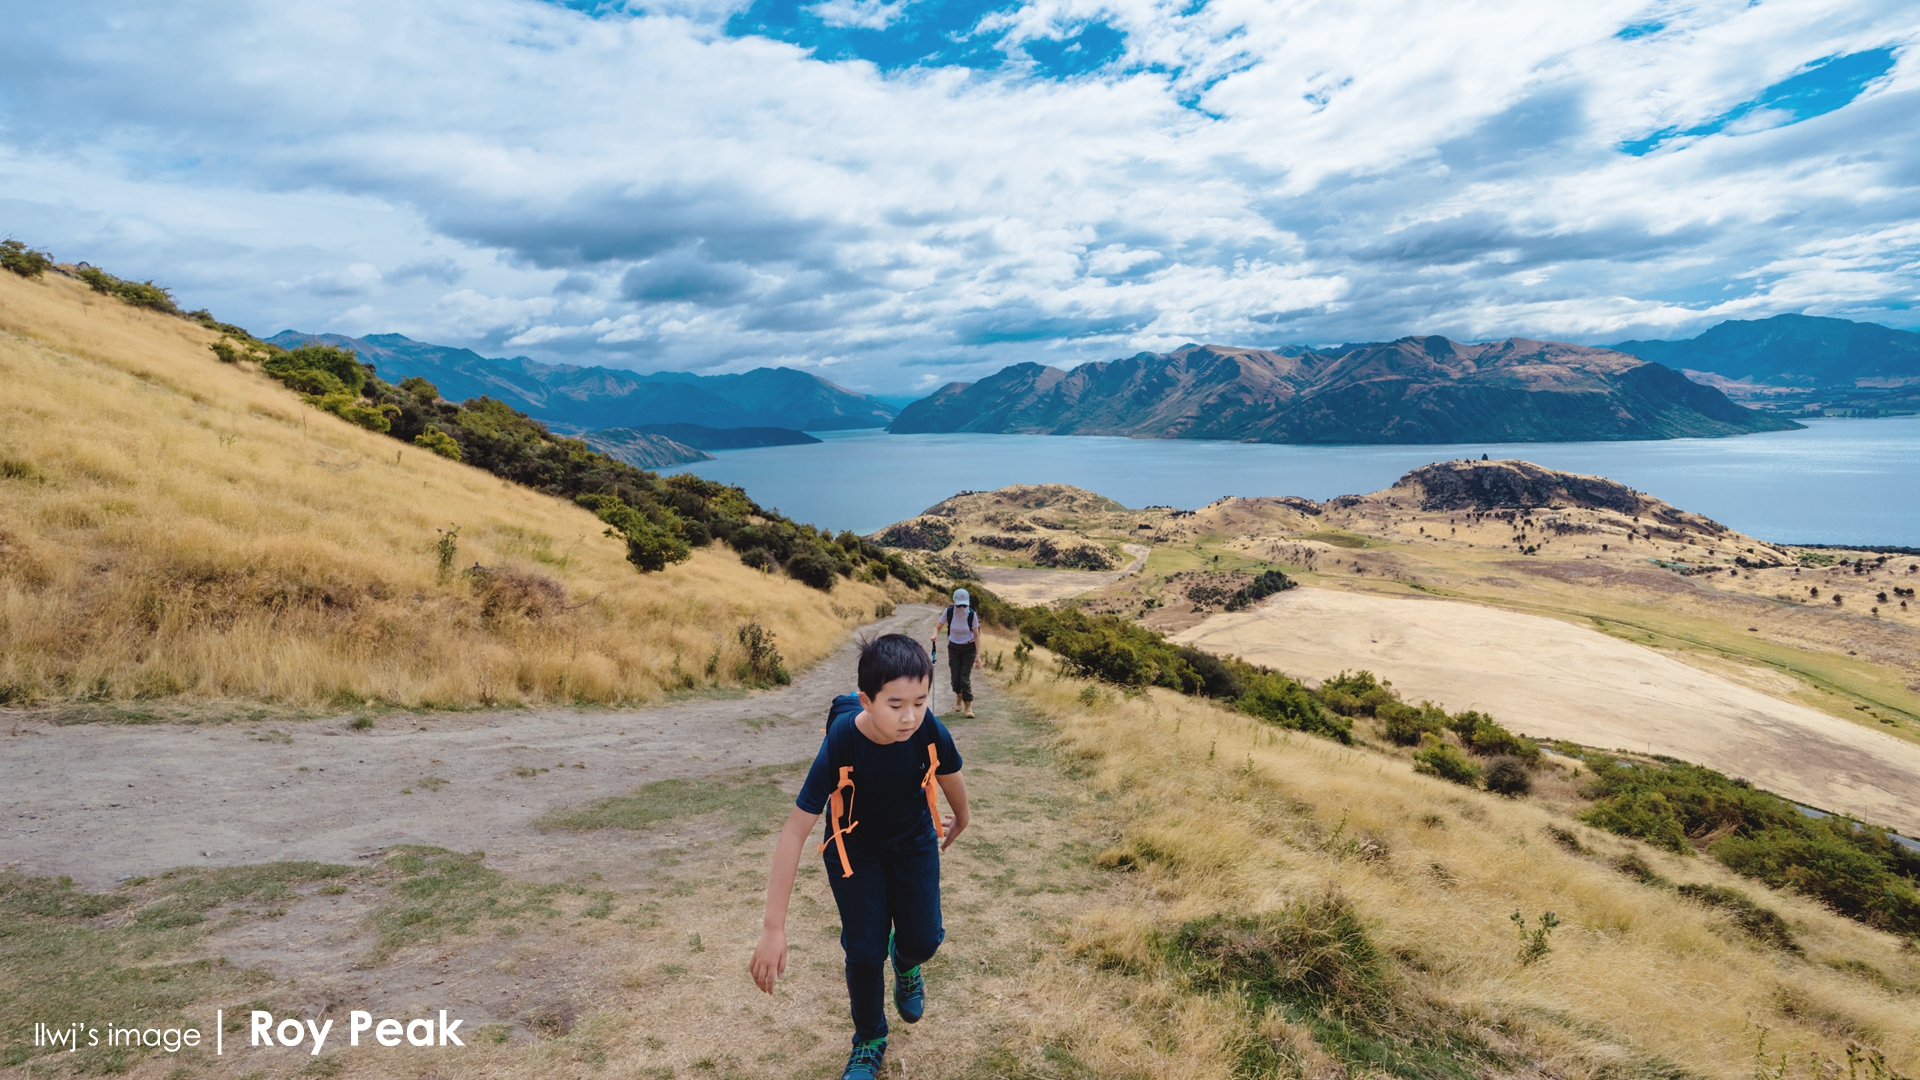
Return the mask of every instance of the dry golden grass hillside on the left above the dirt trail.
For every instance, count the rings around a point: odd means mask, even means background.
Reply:
[[[883,600],[720,548],[639,575],[591,513],[311,409],[213,338],[0,275],[0,703],[634,701],[737,682],[749,619],[806,665]],[[461,567],[509,573],[442,580],[449,525]]]

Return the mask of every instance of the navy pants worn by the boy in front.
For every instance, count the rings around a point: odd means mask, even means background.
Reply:
[[[941,926],[941,846],[929,828],[883,847],[847,844],[852,876],[841,876],[839,855],[826,849],[828,882],[841,909],[841,947],[847,949],[847,999],[852,1042],[887,1038],[887,934],[902,970],[933,957]]]

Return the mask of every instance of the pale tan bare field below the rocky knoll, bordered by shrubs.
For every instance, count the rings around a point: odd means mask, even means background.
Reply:
[[[1667,753],[1920,836],[1920,748],[1557,619],[1298,588],[1175,640],[1308,678],[1363,667],[1409,701],[1480,709],[1536,738]],[[1751,678],[1793,688],[1759,669]]]

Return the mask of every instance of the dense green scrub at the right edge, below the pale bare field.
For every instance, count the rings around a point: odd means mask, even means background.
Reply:
[[[1667,851],[1705,851],[1734,872],[1807,894],[1870,926],[1920,936],[1920,851],[1884,828],[1812,817],[1699,765],[1603,753],[1588,753],[1586,765],[1594,771],[1588,824]]]

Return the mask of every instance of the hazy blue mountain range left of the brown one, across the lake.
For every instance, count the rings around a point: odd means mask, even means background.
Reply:
[[[887,427],[899,413],[877,398],[791,367],[756,367],[739,375],[639,375],[612,367],[540,363],[524,356],[490,359],[467,348],[417,342],[401,334],[349,338],[282,331],[267,340],[282,348],[307,342],[351,348],[390,382],[420,377],[453,402],[499,398],[568,434],[649,425],[843,430]]]

